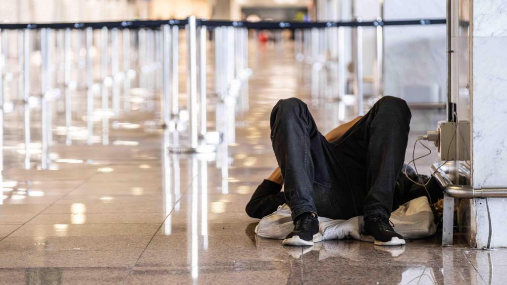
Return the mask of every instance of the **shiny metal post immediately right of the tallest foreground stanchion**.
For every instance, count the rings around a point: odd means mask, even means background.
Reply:
[[[199,94],[200,94],[200,119],[201,128],[200,134],[206,135],[206,46],[207,44],[207,29],[206,26],[201,26],[199,29]]]

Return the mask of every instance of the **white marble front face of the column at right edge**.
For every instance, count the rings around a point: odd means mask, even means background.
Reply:
[[[463,1],[463,0],[462,0]],[[468,0],[467,0],[468,1]],[[472,178],[474,187],[507,187],[507,6],[504,0],[473,1]],[[471,6],[472,7],[472,6]],[[489,199],[491,244],[507,247],[507,199]],[[475,200],[478,247],[487,245],[489,217]]]

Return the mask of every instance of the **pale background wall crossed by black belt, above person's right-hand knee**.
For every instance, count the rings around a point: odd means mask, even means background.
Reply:
[[[385,20],[445,18],[443,0],[385,0]],[[410,86],[446,89],[446,27],[385,27],[385,95],[402,96]]]

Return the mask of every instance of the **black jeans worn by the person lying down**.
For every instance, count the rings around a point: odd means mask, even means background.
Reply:
[[[332,219],[388,218],[411,117],[403,99],[385,96],[328,142],[303,101],[278,101],[270,118],[271,141],[293,219],[307,211]]]

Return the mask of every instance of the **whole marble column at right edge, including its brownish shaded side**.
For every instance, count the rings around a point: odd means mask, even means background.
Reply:
[[[453,10],[453,98],[458,119],[470,122],[470,183],[507,187],[507,3],[456,0]],[[469,206],[471,245],[507,247],[507,199],[460,204]]]

